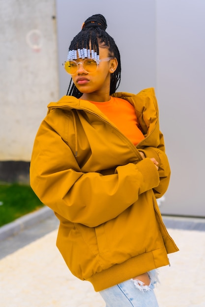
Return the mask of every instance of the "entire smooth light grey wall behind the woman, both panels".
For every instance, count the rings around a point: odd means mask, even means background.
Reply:
[[[119,90],[156,89],[172,168],[162,213],[205,216],[205,1],[78,3],[78,13],[69,14],[69,2],[57,0],[60,95],[70,80],[61,63],[71,39],[87,17],[103,14],[121,53]]]

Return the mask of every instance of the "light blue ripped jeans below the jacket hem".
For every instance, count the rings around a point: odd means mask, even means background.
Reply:
[[[130,279],[100,291],[106,307],[158,307],[154,284],[158,281],[156,270],[148,272],[149,285]]]

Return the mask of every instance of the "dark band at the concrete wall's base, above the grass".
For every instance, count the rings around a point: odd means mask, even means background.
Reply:
[[[29,184],[30,162],[0,161],[0,181]]]

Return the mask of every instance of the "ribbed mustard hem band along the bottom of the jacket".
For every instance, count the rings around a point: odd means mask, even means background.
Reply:
[[[92,283],[94,290],[98,292],[168,264],[169,259],[166,249],[161,248],[132,257],[123,263],[115,264],[109,269],[91,276],[88,281]]]

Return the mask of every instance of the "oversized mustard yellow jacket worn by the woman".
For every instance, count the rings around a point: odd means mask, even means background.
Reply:
[[[135,107],[145,135],[137,146],[95,105],[64,96],[48,105],[30,163],[32,189],[59,218],[60,253],[96,291],[167,265],[178,250],[156,203],[170,166],[154,90],[114,96]]]

